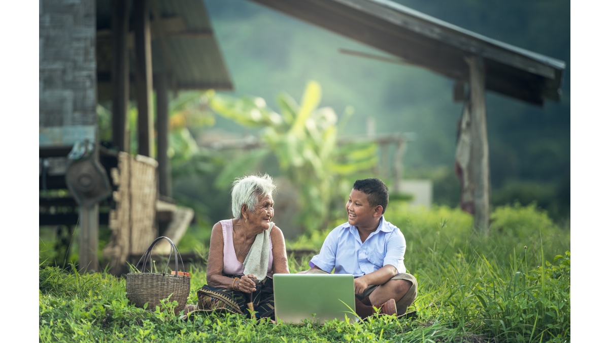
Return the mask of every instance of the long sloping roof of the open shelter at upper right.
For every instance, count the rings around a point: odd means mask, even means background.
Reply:
[[[529,103],[558,101],[565,62],[499,42],[389,0],[251,0],[467,82],[484,59],[486,88]]]

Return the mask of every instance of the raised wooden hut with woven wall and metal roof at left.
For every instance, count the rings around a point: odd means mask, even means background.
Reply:
[[[168,148],[171,92],[231,90],[230,76],[200,0],[42,0],[39,32],[40,189],[69,190],[40,198],[40,225],[78,223],[80,269],[98,270],[98,226],[107,223],[113,237],[105,252],[119,267],[143,252],[138,242],[147,247],[155,238],[132,237],[136,224],[150,236],[160,212],[188,219],[159,201],[171,199],[171,170],[166,153],[152,156],[155,139],[158,151]],[[109,147],[97,137],[96,106],[105,100],[112,104]],[[132,100],[138,156],[128,154]],[[100,202],[110,213],[99,212]]]

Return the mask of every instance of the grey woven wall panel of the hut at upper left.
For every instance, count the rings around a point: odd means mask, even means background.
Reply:
[[[96,125],[95,0],[41,0],[40,127]]]

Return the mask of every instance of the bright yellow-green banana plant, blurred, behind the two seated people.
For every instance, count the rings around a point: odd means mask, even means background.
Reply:
[[[236,98],[207,92],[209,107],[222,117],[248,128],[260,129],[265,143],[255,153],[230,162],[217,182],[230,182],[235,171],[250,168],[272,154],[281,171],[299,190],[300,214],[296,225],[304,231],[325,229],[334,205],[344,201],[349,176],[369,171],[378,163],[375,143],[337,145],[337,115],[320,107],[322,88],[311,81],[298,104],[287,93],[276,97],[279,113],[259,97]],[[353,114],[345,111],[345,120]],[[351,181],[352,182],[352,181]],[[348,187],[348,186],[347,186]]]

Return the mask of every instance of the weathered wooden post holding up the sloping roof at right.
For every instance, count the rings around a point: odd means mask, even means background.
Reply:
[[[489,182],[485,71],[482,57],[466,58],[470,67],[471,172],[474,182],[474,228],[488,233]]]

